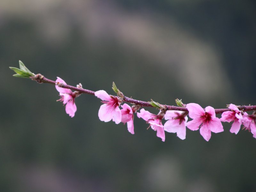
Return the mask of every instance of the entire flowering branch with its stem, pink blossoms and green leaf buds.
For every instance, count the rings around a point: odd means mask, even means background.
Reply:
[[[215,109],[211,106],[203,109],[196,103],[188,103],[185,105],[178,99],[175,101],[180,108],[174,106],[163,106],[153,100],[151,102],[138,101],[129,98],[129,100],[127,100],[127,97],[124,97],[124,94],[117,89],[114,82],[112,88],[117,93],[117,96],[109,95],[104,90],[96,92],[85,90],[82,88],[81,84],[73,87],[67,85],[66,82],[59,77],[57,77],[56,81],[52,81],[41,74],[35,75],[28,70],[21,61],[19,61],[19,65],[20,69],[10,67],[11,70],[16,72],[16,74],[13,75],[14,77],[30,78],[38,83],[55,84],[57,91],[60,92],[60,99],[57,101],[63,102],[66,113],[69,114],[70,117],[75,116],[75,98],[81,93],[88,93],[95,95],[102,100],[101,102],[103,104],[100,106],[98,113],[101,121],[109,122],[112,120],[116,124],[120,122],[123,122],[124,124],[127,123],[128,131],[132,134],[134,134],[133,119],[134,113],[136,113],[138,118],[144,119],[146,123],[149,124],[149,127],[156,131],[156,136],[160,137],[162,141],[165,141],[165,132],[177,133],[177,136],[180,139],[185,139],[186,127],[193,131],[200,129],[200,134],[206,141],[209,141],[212,132],[220,133],[224,131],[221,122],[233,122],[230,129],[231,133],[237,134],[241,129],[241,126],[243,126],[243,129],[250,131],[253,137],[256,138],[256,111],[251,115],[245,112],[246,110],[256,110],[256,106],[241,107],[229,104],[228,110],[221,109],[220,111],[220,109],[216,109],[216,111],[219,110],[219,113],[222,112],[221,118],[218,118],[216,117]],[[76,91],[72,92],[71,89]],[[127,104],[121,105],[124,101],[128,101],[130,103],[134,102],[135,104],[132,107]],[[143,108],[140,109],[142,106],[156,107],[160,109],[160,112],[158,114],[152,114]],[[119,107],[122,107],[122,109]],[[167,107],[169,107],[169,110],[167,110]],[[137,112],[139,109],[140,111]],[[181,111],[170,109],[180,109]],[[189,122],[188,116],[192,119]],[[167,120],[164,125],[162,124],[162,119]]]

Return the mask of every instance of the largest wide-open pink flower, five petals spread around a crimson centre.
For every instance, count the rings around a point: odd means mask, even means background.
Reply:
[[[205,108],[205,111],[196,103],[188,103],[186,107],[189,112],[189,117],[193,119],[187,123],[188,129],[195,131],[200,128],[200,134],[206,141],[210,140],[211,131],[214,133],[224,131],[220,119],[215,115],[213,107],[208,106]]]

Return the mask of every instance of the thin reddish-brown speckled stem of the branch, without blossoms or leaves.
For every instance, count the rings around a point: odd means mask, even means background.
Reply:
[[[56,85],[55,81],[47,79],[41,74],[37,74],[35,77],[31,77],[31,79],[35,80],[38,83],[50,83],[50,84]],[[79,91],[80,93],[91,94],[91,95],[94,95],[94,93],[95,93],[94,91],[83,89],[83,88],[77,88],[77,87],[74,87],[74,86],[71,86],[71,85],[61,85],[61,87],[71,89],[71,90],[74,90],[74,91]],[[152,105],[150,105],[146,101],[135,100],[135,99],[131,99],[131,98],[125,97],[125,96],[124,96],[123,100],[125,102],[140,105],[141,107],[153,107]],[[167,110],[188,111],[188,109],[186,107],[176,107],[176,106],[171,106],[171,105],[163,105],[163,106],[166,106]],[[238,108],[240,110],[243,109],[244,111],[253,111],[253,110],[256,110],[256,105],[254,105],[254,106],[239,106]],[[231,111],[231,109],[229,109],[229,108],[215,109],[216,114],[220,114],[220,113],[223,113],[225,111]]]

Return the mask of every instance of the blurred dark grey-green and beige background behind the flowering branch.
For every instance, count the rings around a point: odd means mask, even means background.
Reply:
[[[100,100],[76,99],[70,118],[34,73],[128,97],[202,107],[256,105],[256,3],[212,0],[1,0],[0,191],[256,191],[248,131],[199,131],[166,141],[135,118],[98,119]],[[157,113],[156,109],[149,109]],[[220,117],[220,116],[218,116]]]

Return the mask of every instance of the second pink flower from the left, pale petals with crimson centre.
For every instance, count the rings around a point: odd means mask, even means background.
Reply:
[[[103,105],[100,106],[99,118],[100,121],[109,122],[111,119],[116,122],[116,124],[121,122],[121,111],[119,109],[120,100],[118,97],[110,96],[106,91],[100,90],[96,91],[95,96],[100,98]]]

